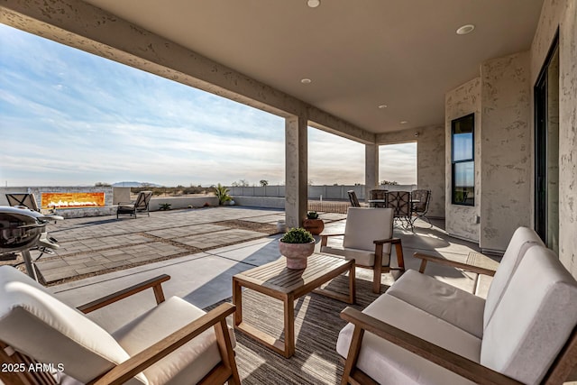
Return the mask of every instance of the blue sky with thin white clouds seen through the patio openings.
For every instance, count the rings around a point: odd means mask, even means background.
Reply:
[[[284,120],[0,23],[0,184],[284,183]],[[309,128],[308,179],[364,182],[364,145]],[[380,179],[416,183],[416,144]],[[385,161],[387,160],[387,161]]]

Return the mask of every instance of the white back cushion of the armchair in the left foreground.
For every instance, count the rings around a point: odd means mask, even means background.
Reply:
[[[0,266],[0,340],[88,382],[128,353],[102,327],[11,266]],[[130,384],[148,383],[142,374]]]

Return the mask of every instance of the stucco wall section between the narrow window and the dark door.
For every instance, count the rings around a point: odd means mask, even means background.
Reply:
[[[481,65],[481,249],[504,251],[531,224],[529,53]]]

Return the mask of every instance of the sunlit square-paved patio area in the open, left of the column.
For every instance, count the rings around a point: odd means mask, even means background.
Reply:
[[[241,207],[67,219],[48,226],[60,248],[36,265],[45,283],[61,283],[261,238],[276,232],[279,219],[284,219],[279,210]],[[235,228],[239,220],[249,229]]]

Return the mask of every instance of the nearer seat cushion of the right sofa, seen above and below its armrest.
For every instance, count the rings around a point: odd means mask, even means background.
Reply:
[[[479,338],[402,299],[385,293],[362,312],[474,362],[480,360]],[[339,334],[336,351],[343,357],[348,354],[353,327],[353,324],[348,324]],[[357,366],[373,380],[383,384],[472,384],[452,371],[368,332],[362,339]]]

